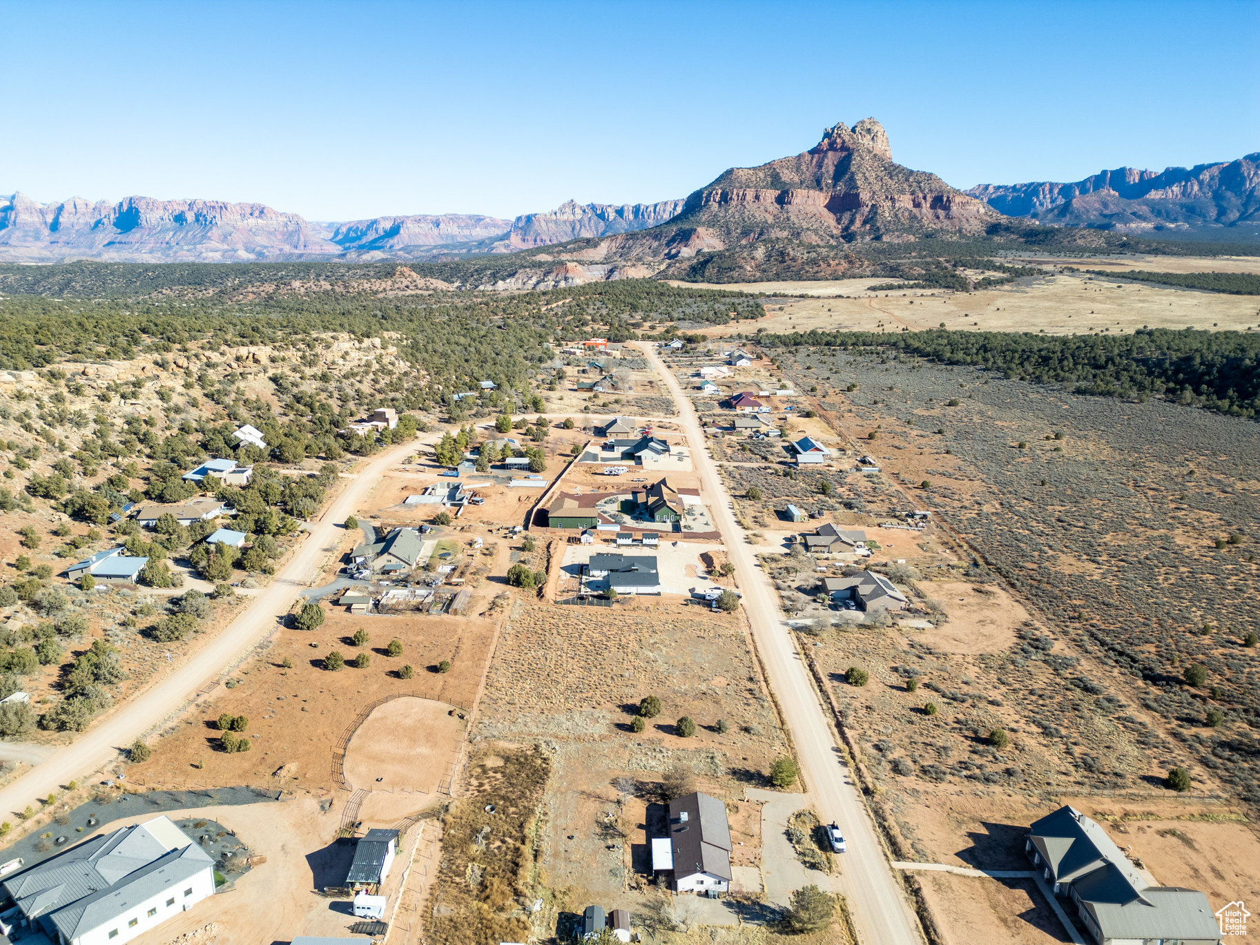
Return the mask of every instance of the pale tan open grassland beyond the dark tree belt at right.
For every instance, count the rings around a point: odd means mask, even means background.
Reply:
[[[1106,268],[1095,261],[1079,261],[1090,268]],[[1155,268],[1144,260],[1130,268]],[[1179,260],[1189,268],[1177,272],[1203,272],[1216,266],[1207,260]],[[1205,263],[1202,266],[1197,263]],[[1211,261],[1220,262],[1220,261]],[[1256,261],[1251,261],[1255,266]],[[1118,267],[1116,271],[1120,271]],[[1230,272],[1254,271],[1245,267]],[[1244,331],[1260,328],[1260,301],[1255,296],[1201,292],[1173,286],[1133,282],[1108,282],[1085,273],[1056,273],[1021,278],[1017,282],[975,292],[911,289],[905,292],[866,292],[862,287],[890,280],[844,280],[837,284],[751,284],[750,291],[782,292],[770,300],[767,316],[757,321],[770,333],[808,331],[890,331],[908,328],[920,331],[940,323],[961,331],[1042,331],[1047,334],[1087,334],[1090,331],[1131,333],[1149,328],[1200,328]],[[834,285],[825,291],[820,285]],[[756,289],[756,286],[765,286]],[[771,289],[770,286],[774,286]],[[731,289],[732,286],[727,286]],[[799,296],[789,297],[789,292]],[[849,296],[849,297],[834,297]]]

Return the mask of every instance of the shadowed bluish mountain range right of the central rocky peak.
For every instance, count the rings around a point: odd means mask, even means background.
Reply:
[[[1058,227],[1144,233],[1260,223],[1260,152],[1162,171],[1118,168],[1072,184],[980,184],[966,193],[1000,213]]]

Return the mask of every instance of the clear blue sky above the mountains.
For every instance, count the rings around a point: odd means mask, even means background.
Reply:
[[[4,3],[0,192],[683,197],[874,116],[955,186],[1260,150],[1260,3]]]

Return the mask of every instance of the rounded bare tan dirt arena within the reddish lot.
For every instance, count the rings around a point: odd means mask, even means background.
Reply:
[[[465,722],[451,707],[416,697],[378,706],[345,748],[345,780],[369,791],[432,794],[450,771]]]

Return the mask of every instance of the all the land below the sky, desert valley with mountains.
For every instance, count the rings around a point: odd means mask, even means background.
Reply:
[[[0,202],[0,934],[1245,941],[1260,155],[896,154]]]

